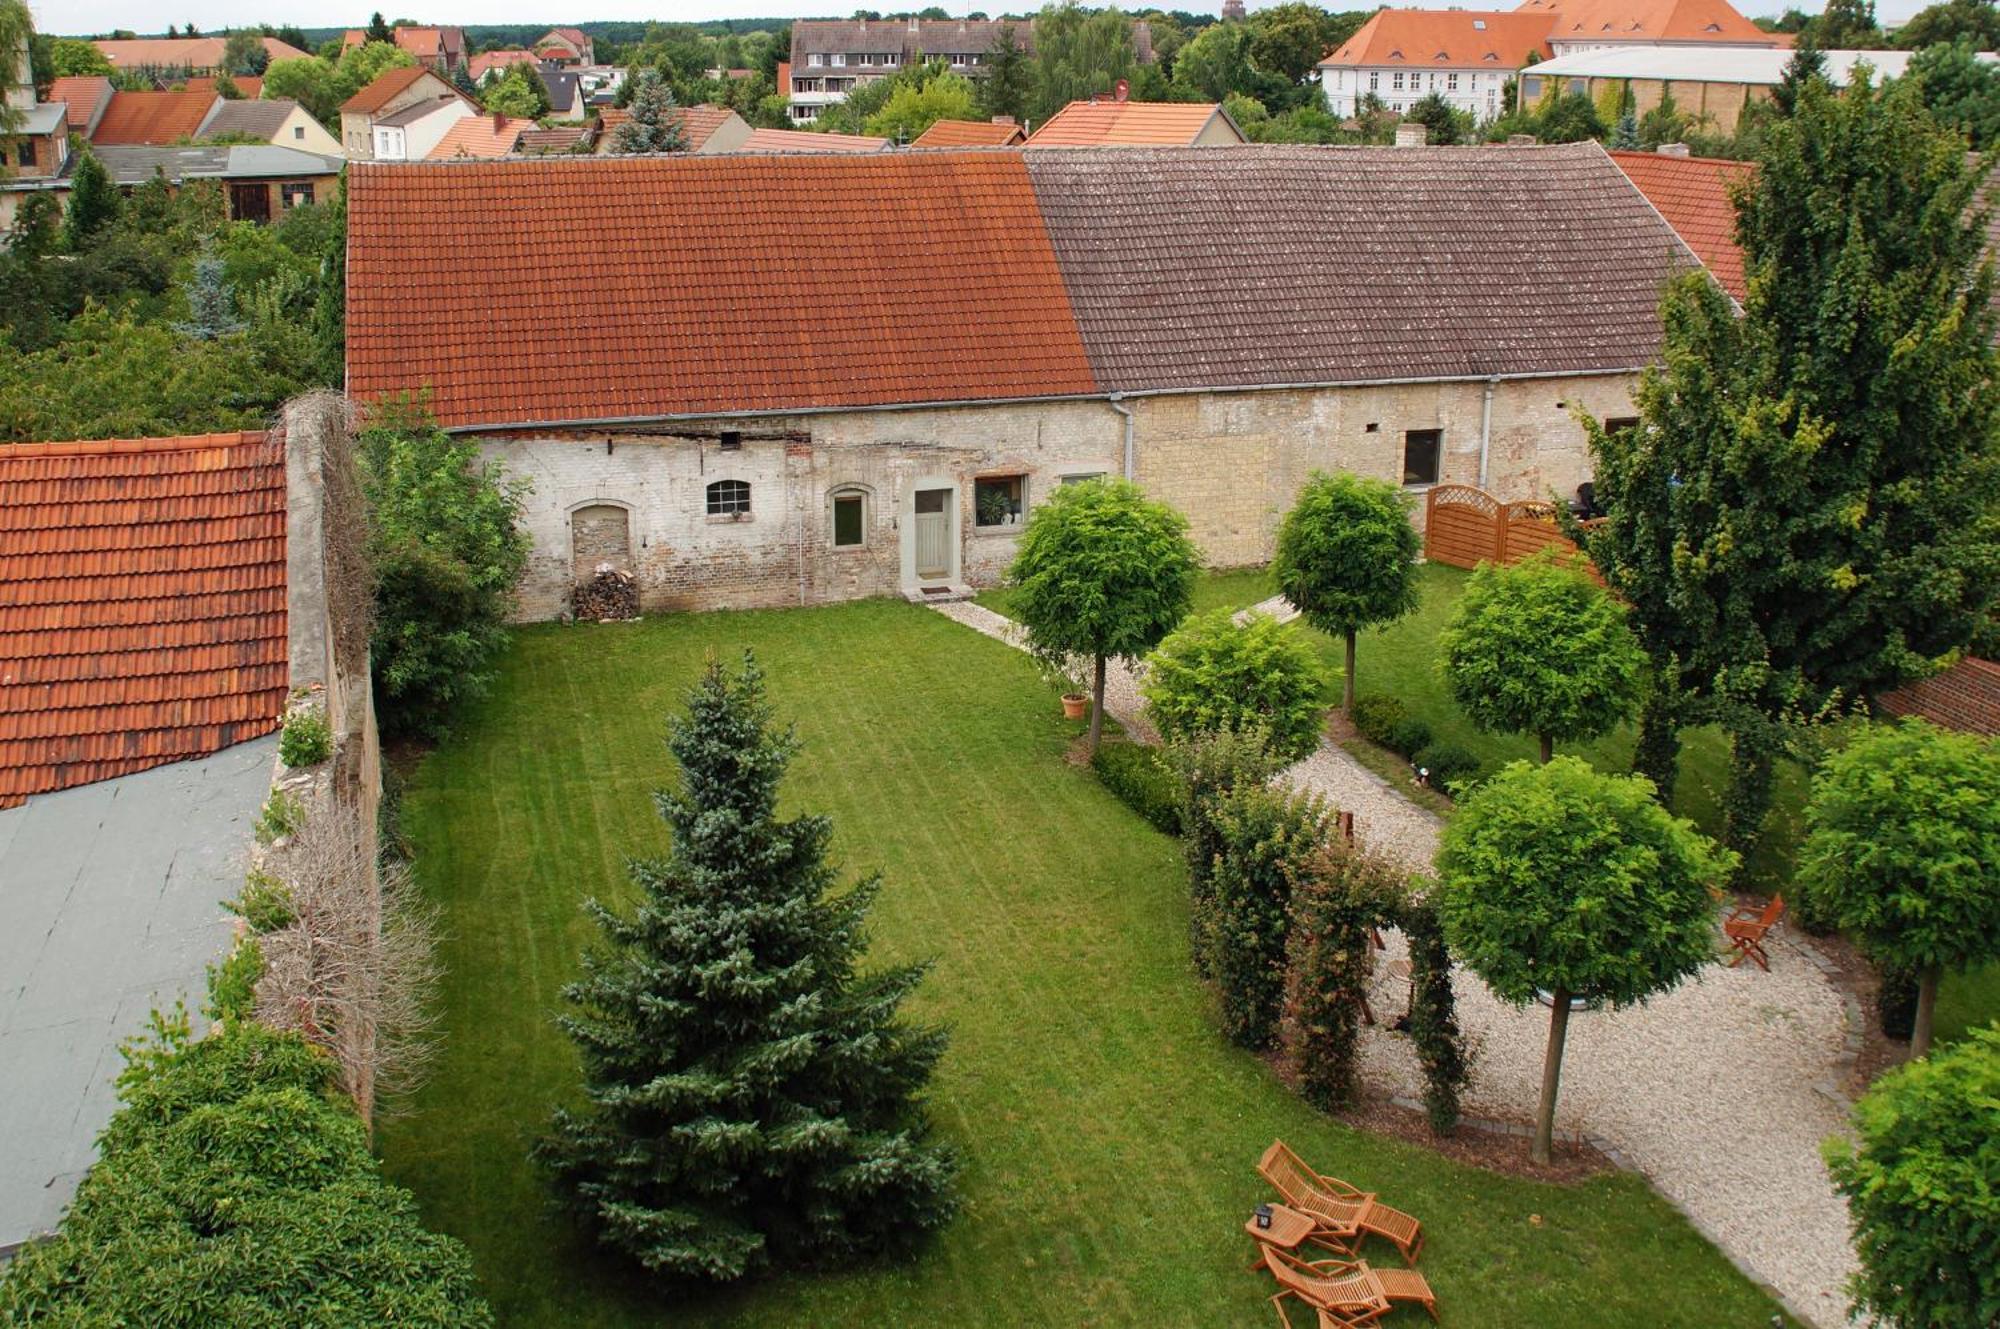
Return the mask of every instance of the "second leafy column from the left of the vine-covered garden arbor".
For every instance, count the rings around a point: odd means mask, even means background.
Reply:
[[[1278,1031],[1292,883],[1324,847],[1330,819],[1318,795],[1268,785],[1238,785],[1216,807],[1212,959],[1222,1031],[1242,1047],[1268,1047]]]

